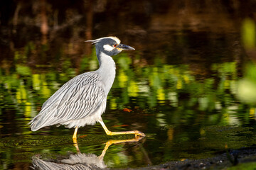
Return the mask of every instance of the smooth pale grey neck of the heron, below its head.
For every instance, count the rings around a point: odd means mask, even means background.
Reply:
[[[105,93],[108,94],[110,92],[116,74],[115,63],[112,57],[106,55],[104,52],[97,52],[96,55],[100,63],[100,68],[97,69],[97,72],[101,77]]]

